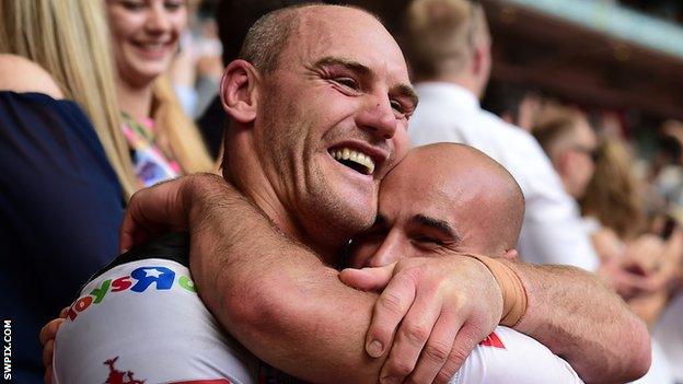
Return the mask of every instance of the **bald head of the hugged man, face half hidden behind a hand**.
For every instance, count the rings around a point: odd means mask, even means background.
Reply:
[[[523,197],[512,176],[465,146],[413,150],[384,179],[373,226],[349,266],[379,267],[444,251],[516,257]]]

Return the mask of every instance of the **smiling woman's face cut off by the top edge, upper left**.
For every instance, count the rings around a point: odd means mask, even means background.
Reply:
[[[187,24],[184,0],[106,0],[118,74],[130,86],[163,73]]]

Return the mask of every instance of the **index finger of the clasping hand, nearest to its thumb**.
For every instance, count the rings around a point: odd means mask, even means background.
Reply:
[[[403,316],[415,300],[415,280],[409,274],[396,275],[377,303],[372,313],[372,323],[366,336],[366,351],[370,357],[384,354],[394,338],[394,333]]]

